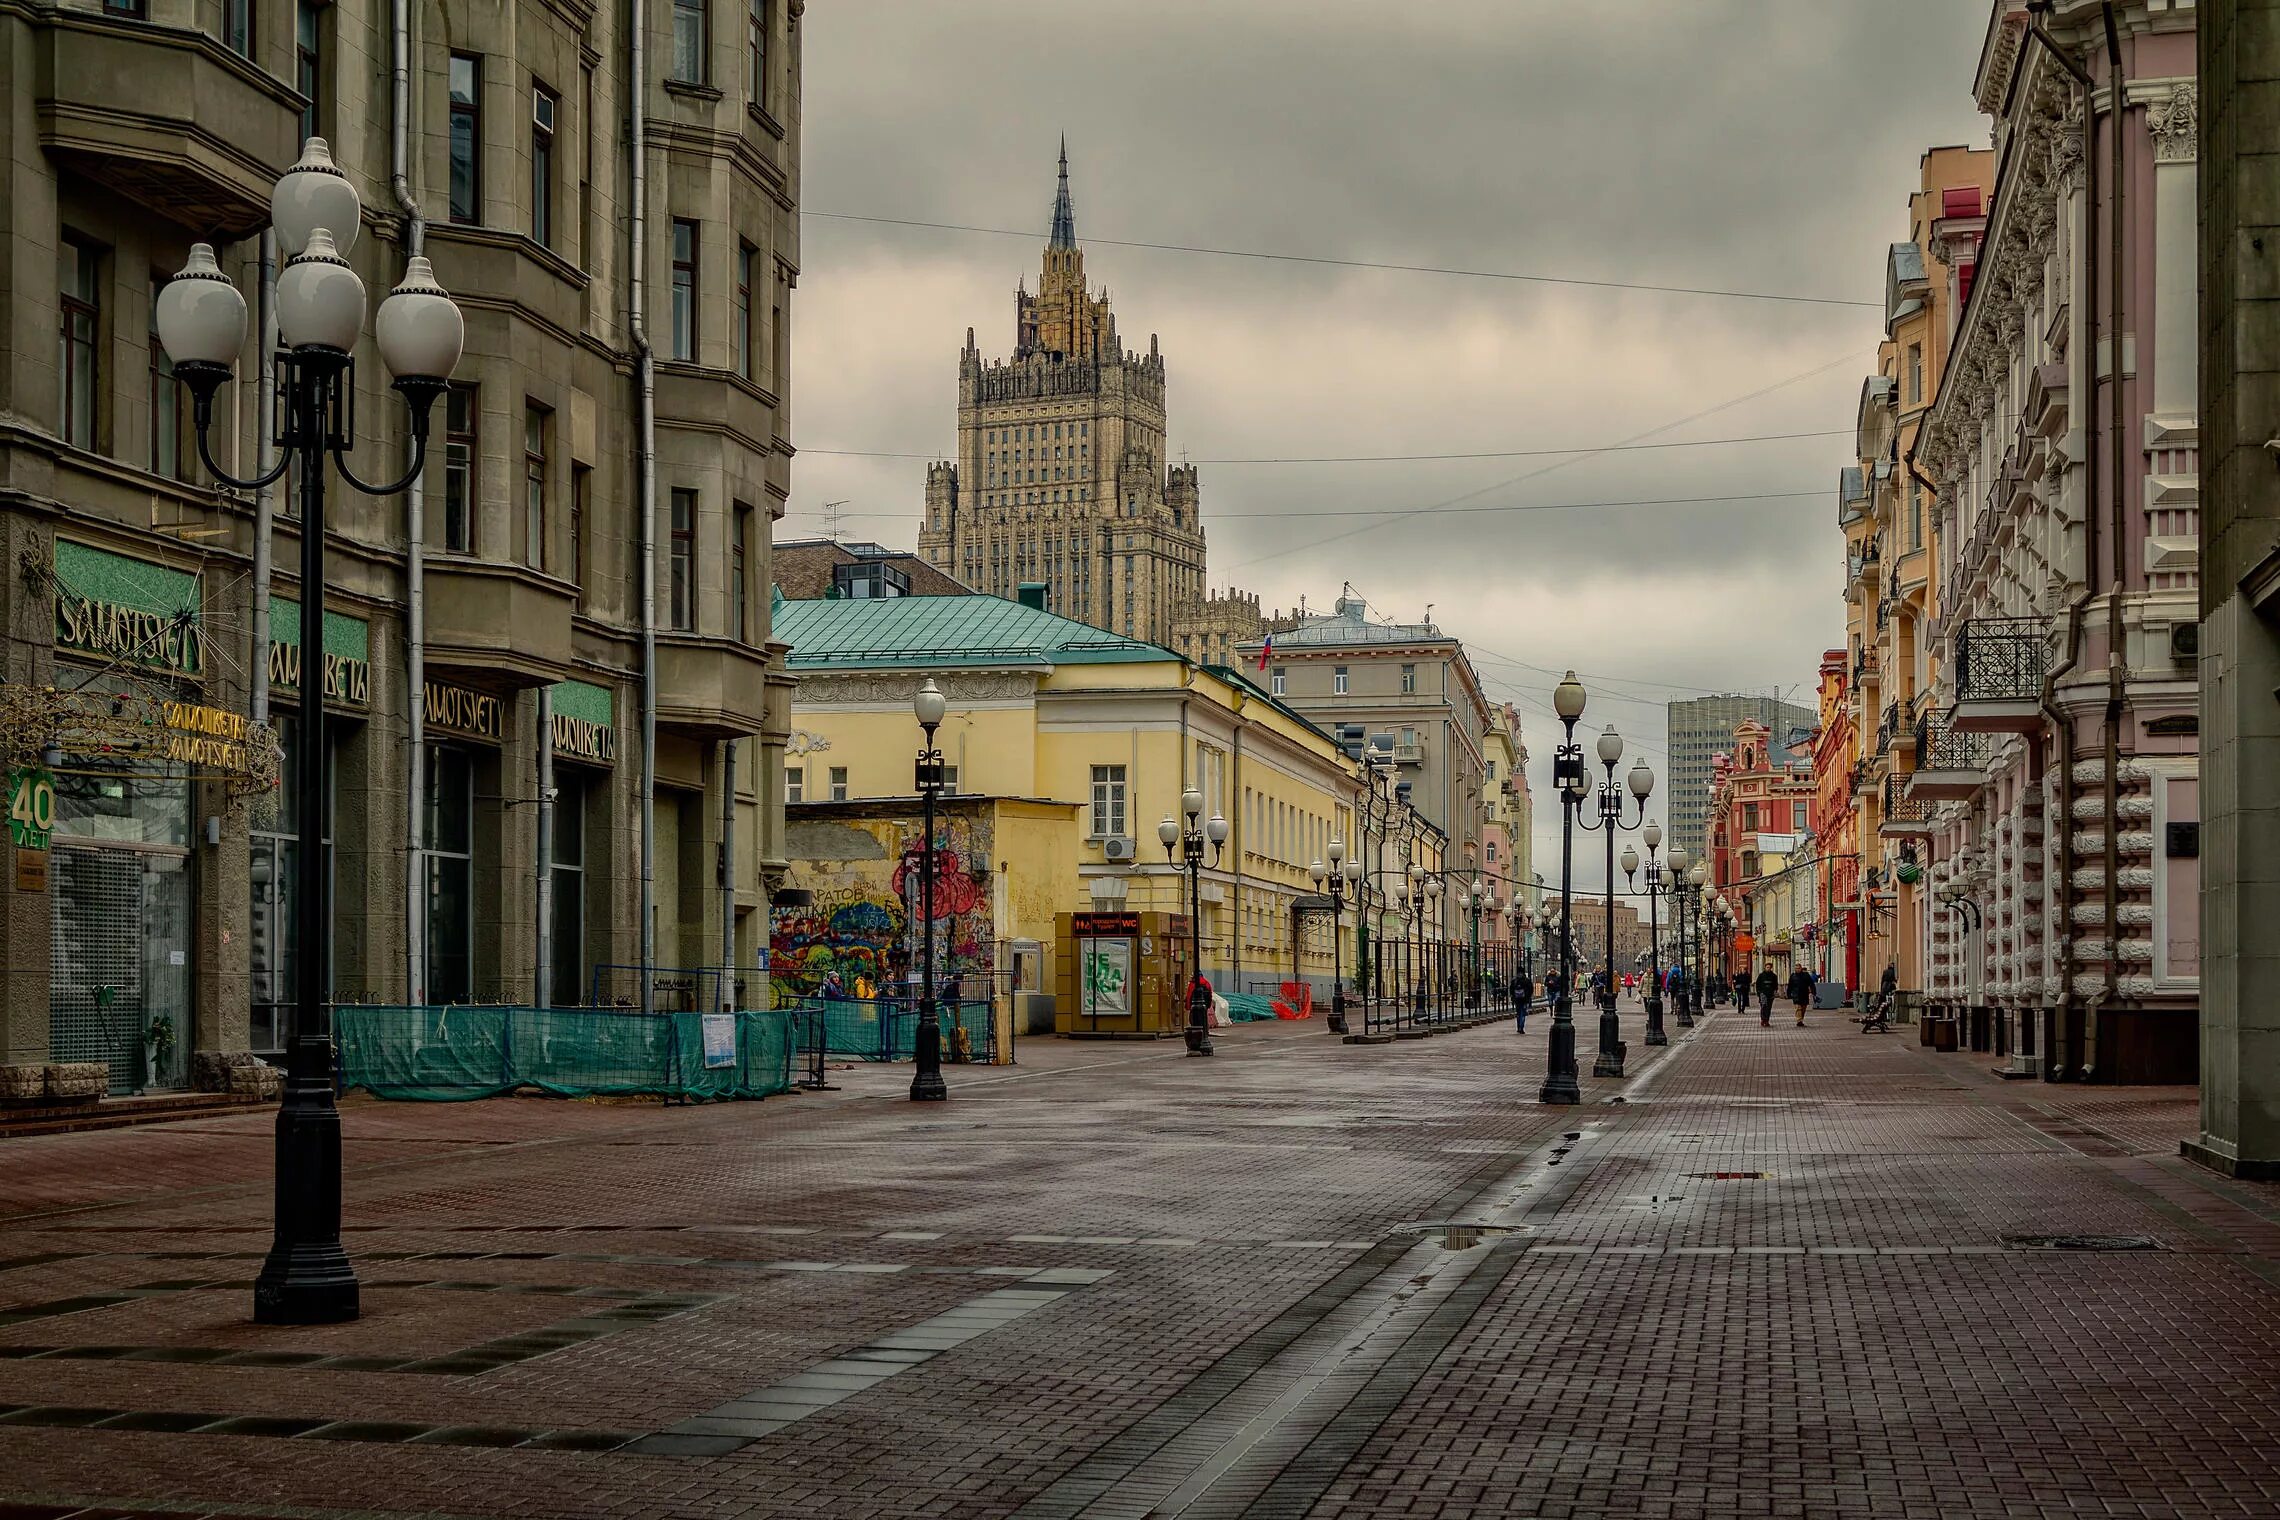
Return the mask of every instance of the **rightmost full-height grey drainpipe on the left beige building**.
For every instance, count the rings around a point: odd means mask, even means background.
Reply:
[[[397,0],[404,5],[406,0]],[[634,340],[634,499],[641,510],[641,1012],[657,1007],[657,356],[650,351],[650,173],[645,107],[650,48],[641,5],[627,7],[627,150],[634,214],[627,237],[627,333]]]

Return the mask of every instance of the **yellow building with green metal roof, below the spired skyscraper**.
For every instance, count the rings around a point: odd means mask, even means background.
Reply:
[[[1206,975],[1220,991],[1297,978],[1327,998],[1329,905],[1306,871],[1332,839],[1354,836],[1354,766],[1243,672],[996,597],[782,602],[777,620],[800,681],[787,830],[807,804],[907,807],[910,700],[933,677],[948,697],[937,745],[960,802],[1001,800],[1001,816],[1003,800],[1062,809],[990,845],[992,875],[1047,882],[1001,930],[1058,912],[1186,914],[1186,873],[1156,832],[1195,788],[1206,820],[1227,818],[1227,845],[1218,861],[1206,850],[1202,873]],[[1352,973],[1352,916],[1341,932]],[[1040,943],[1024,989],[1053,987],[1056,953]],[[987,969],[1005,980],[1015,962],[994,953]]]

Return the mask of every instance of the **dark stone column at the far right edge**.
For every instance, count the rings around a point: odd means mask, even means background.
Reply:
[[[2280,0],[2200,30],[2200,1139],[2280,1176]]]

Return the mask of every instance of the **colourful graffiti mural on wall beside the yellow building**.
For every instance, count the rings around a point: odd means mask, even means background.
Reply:
[[[983,996],[996,973],[990,882],[974,861],[990,859],[987,818],[935,820],[935,966]],[[803,857],[800,843],[814,850]],[[791,886],[812,902],[777,909],[768,966],[780,996],[821,991],[828,975],[857,987],[901,987],[919,966],[923,850],[914,818],[860,818],[809,825],[791,848]]]

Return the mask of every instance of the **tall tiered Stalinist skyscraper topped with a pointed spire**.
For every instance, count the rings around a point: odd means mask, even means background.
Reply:
[[[1108,292],[1085,285],[1067,141],[1037,294],[1015,294],[1012,358],[985,362],[967,328],[958,463],[928,465],[919,554],[974,590],[1044,586],[1051,611],[1161,645],[1195,645],[1243,604],[1259,615],[1256,599],[1204,597],[1195,467],[1167,463],[1163,353],[1154,335],[1126,351]],[[1227,659],[1211,643],[1183,652]]]

